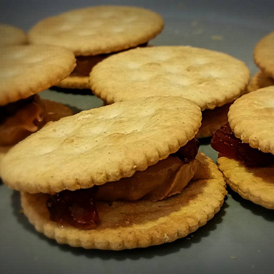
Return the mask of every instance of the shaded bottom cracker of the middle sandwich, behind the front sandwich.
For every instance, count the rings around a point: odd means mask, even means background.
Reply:
[[[217,129],[225,125],[228,122],[227,113],[230,105],[226,104],[212,110],[204,110],[202,112],[202,125],[196,134],[196,138],[210,137]]]

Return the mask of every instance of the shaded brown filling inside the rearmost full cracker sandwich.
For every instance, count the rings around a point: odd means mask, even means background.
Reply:
[[[146,47],[147,43],[139,45],[139,47]],[[76,57],[76,67],[70,76],[89,76],[92,68],[103,59],[107,58],[111,54],[100,54],[95,56],[77,56]]]

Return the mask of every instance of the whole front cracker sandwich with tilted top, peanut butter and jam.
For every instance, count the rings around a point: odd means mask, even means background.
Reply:
[[[48,124],[8,152],[0,176],[59,243],[171,242],[206,224],[226,195],[218,167],[198,153],[200,125],[200,108],[182,97],[118,102]]]

